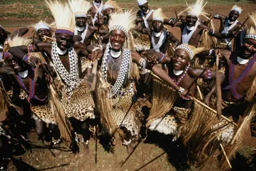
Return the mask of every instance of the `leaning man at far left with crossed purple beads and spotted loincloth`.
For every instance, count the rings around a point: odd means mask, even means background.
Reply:
[[[8,44],[15,47],[18,45],[29,44],[30,40],[14,37],[12,40],[8,39]],[[10,66],[14,70],[14,74],[10,75],[11,79],[14,81],[12,101],[17,101],[18,96],[23,89],[27,93],[27,101],[31,105],[31,111],[33,112],[33,118],[36,123],[36,133],[39,136],[39,139],[43,139],[46,142],[53,142],[57,144],[60,142],[60,133],[57,128],[57,122],[55,116],[49,111],[51,111],[51,105],[48,101],[48,88],[47,81],[52,81],[50,73],[45,73],[43,68],[51,70],[49,66],[43,64],[42,67],[38,68],[37,74],[36,70],[29,65],[29,61],[35,60],[33,57],[29,57],[27,60],[21,60],[20,58],[14,58],[12,54],[6,52],[3,55],[5,64]],[[38,76],[36,76],[38,75]],[[37,77],[37,78],[36,78]],[[16,104],[20,105],[20,104]],[[49,124],[49,129],[46,127],[46,124]],[[52,135],[52,138],[49,137]],[[49,139],[50,138],[50,139]]]

